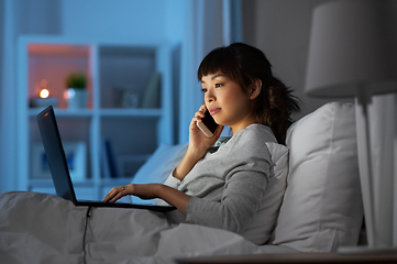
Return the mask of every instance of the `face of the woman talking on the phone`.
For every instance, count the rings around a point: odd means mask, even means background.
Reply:
[[[201,78],[207,109],[217,123],[230,125],[233,134],[255,122],[250,92],[222,73]]]

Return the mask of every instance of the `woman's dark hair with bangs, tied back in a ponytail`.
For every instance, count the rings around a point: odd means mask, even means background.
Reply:
[[[217,73],[227,75],[246,92],[257,79],[262,81],[261,94],[254,102],[255,117],[272,129],[278,143],[285,144],[287,129],[294,122],[290,116],[300,111],[299,99],[273,76],[265,54],[243,43],[218,47],[203,58],[197,77],[200,81],[203,76]]]

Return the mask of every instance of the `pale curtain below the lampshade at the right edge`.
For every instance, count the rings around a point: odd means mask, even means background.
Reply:
[[[368,107],[375,230],[383,246],[397,246],[396,95],[375,96]]]

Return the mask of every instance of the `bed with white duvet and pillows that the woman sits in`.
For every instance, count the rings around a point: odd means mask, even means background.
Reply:
[[[175,263],[180,257],[333,252],[356,245],[363,223],[354,106],[330,102],[288,130],[286,189],[269,241],[170,227],[161,212],[75,207],[56,196],[0,195],[1,263]],[[186,144],[162,145],[133,183],[165,180]],[[276,165],[275,165],[276,167]],[[154,168],[154,169],[153,169]],[[153,217],[153,215],[157,215]]]

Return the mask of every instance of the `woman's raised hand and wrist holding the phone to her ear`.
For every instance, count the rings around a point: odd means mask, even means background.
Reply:
[[[202,105],[200,109],[195,113],[195,117],[191,119],[189,127],[189,146],[188,150],[179,163],[179,165],[174,170],[174,177],[183,180],[185,176],[191,170],[196,163],[206,154],[207,150],[210,148],[219,139],[222,133],[223,125],[219,125],[214,135],[210,139],[202,133],[202,131],[197,127],[197,122],[201,122],[201,118],[205,117],[203,111],[206,110],[206,105]]]

